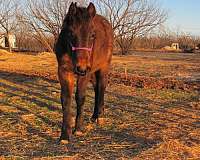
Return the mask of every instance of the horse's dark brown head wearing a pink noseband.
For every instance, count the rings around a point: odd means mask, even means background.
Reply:
[[[90,3],[87,8],[77,7],[71,3],[63,23],[66,45],[71,53],[74,71],[84,76],[91,70],[92,52],[95,41],[93,18],[95,6]]]

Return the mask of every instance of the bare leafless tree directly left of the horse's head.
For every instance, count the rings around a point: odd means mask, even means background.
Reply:
[[[33,37],[50,52],[53,52],[54,42],[71,2],[72,0],[28,0],[27,2],[28,9],[22,19],[29,25]]]

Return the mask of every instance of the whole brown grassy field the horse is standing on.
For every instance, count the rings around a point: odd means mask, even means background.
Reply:
[[[67,145],[57,142],[62,112],[56,66],[49,53],[0,51],[0,159],[200,159],[200,54],[114,56],[105,123],[89,121],[89,85],[86,132]]]

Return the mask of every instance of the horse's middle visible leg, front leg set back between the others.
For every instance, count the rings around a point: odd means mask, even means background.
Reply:
[[[88,78],[78,77],[77,88],[76,88],[76,104],[77,104],[77,115],[75,124],[75,134],[80,135],[83,131],[83,105],[85,102],[85,93],[87,88]]]

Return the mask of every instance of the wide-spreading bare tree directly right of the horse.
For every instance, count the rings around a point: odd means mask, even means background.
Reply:
[[[115,40],[126,54],[136,37],[162,24],[167,13],[150,0],[93,0],[99,12],[111,22]]]

